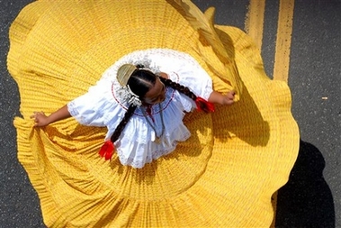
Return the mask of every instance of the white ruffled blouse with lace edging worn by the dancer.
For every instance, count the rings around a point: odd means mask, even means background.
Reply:
[[[153,72],[165,72],[169,79],[189,87],[196,96],[206,100],[211,95],[210,76],[190,55],[166,49],[131,52],[108,68],[97,84],[90,87],[85,95],[67,104],[69,113],[78,123],[106,126],[108,132],[105,141],[110,140],[129,107],[117,93],[121,86],[116,79],[117,70],[126,63],[142,64]],[[146,163],[175,150],[178,141],[185,141],[191,135],[183,123],[184,112],[191,112],[196,108],[194,101],[189,97],[167,87],[165,101],[151,108],[154,122],[149,116],[145,116],[143,108],[141,106],[135,110],[121,132],[119,140],[114,142],[122,165],[142,168]],[[149,118],[149,122],[146,118]],[[161,142],[157,143],[155,139],[163,131]]]

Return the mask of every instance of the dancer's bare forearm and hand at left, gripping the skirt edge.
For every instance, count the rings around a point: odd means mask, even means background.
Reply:
[[[67,105],[62,106],[56,112],[47,116],[43,112],[34,112],[31,115],[31,119],[34,119],[35,127],[43,127],[49,125],[49,123],[54,123],[60,120],[67,119],[71,117],[71,114],[67,110]]]

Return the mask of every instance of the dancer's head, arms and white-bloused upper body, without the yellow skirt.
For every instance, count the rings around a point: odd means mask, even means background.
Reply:
[[[189,55],[175,50],[142,50],[118,60],[84,96],[49,116],[35,112],[31,118],[38,127],[71,116],[84,125],[106,126],[100,155],[111,160],[116,144],[122,165],[142,168],[175,150],[177,141],[190,137],[183,123],[184,112],[196,107],[212,112],[212,104],[231,105],[233,98],[232,91],[226,96],[212,91],[211,78]],[[121,135],[130,137],[120,139]]]

